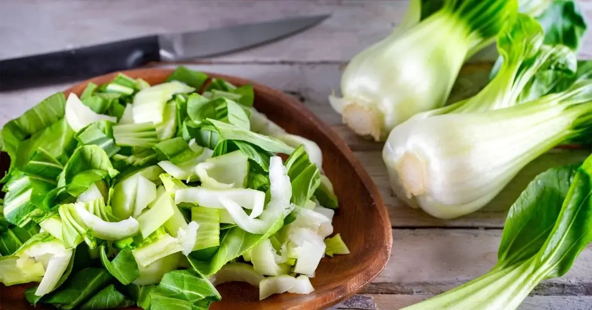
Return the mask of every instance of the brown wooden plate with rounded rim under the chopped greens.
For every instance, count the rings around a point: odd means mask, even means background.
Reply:
[[[159,84],[171,72],[169,69],[138,69],[123,73],[132,78],[142,78],[150,84]],[[382,197],[370,176],[345,142],[297,100],[246,79],[210,75],[224,78],[235,85],[253,85],[255,107],[259,111],[289,133],[318,143],[323,151],[323,170],[339,197],[340,207],[333,220],[334,232],[342,235],[351,251],[349,255],[335,255],[321,260],[316,276],[311,279],[315,288],[311,294],[284,293],[259,301],[256,287],[246,283],[224,283],[217,287],[222,301],[213,303],[211,309],[326,309],[352,296],[378,275],[391,253],[391,223]],[[114,76],[115,73],[111,73],[89,79],[69,88],[65,94],[67,96],[75,92],[80,95],[88,82],[104,84]],[[4,159],[0,168],[6,171],[8,162]],[[26,287],[28,285],[0,286],[0,308],[36,309],[24,299]],[[38,306],[37,309],[42,308]]]

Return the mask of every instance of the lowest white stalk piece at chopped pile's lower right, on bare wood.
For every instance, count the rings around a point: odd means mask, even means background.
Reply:
[[[297,278],[282,275],[276,277],[266,277],[259,282],[259,300],[262,301],[274,294],[295,293],[309,294],[314,291],[313,285],[307,276],[298,276]]]

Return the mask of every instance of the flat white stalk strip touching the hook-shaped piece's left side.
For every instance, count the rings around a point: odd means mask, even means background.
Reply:
[[[205,187],[191,187],[175,192],[175,203],[189,202],[203,207],[224,209],[219,197],[232,200],[245,209],[261,209],[265,203],[265,193],[251,188],[233,188],[230,190],[211,190]]]

